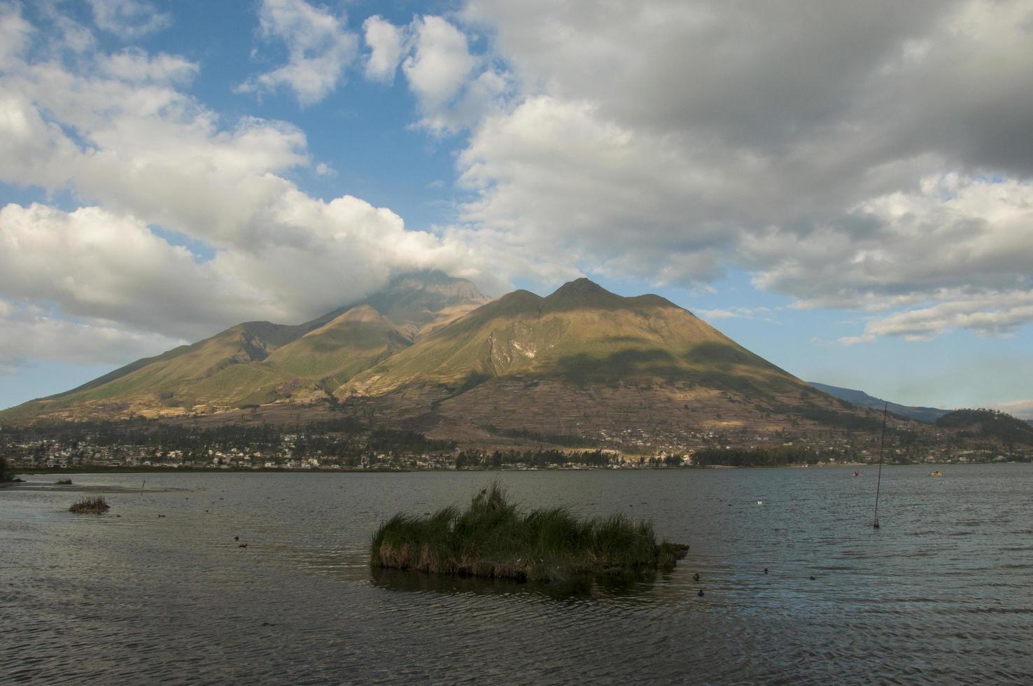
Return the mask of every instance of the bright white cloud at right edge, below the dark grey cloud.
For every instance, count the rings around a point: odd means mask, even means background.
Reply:
[[[804,307],[1033,289],[1033,183],[930,176],[821,225],[752,232],[743,248],[758,266],[757,285],[791,292]]]

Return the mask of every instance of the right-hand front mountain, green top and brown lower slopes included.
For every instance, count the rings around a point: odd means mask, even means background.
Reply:
[[[658,295],[588,279],[518,290],[356,374],[334,394],[375,422],[549,435],[868,426],[842,403]],[[439,429],[440,428],[440,429]]]

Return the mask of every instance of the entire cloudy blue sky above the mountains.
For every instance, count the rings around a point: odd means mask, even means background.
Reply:
[[[0,407],[413,269],[1033,417],[1033,0],[0,0]]]

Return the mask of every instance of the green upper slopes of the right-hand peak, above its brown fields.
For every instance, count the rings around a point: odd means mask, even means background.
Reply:
[[[356,376],[338,395],[410,385],[468,389],[498,377],[574,384],[689,381],[780,391],[801,382],[658,295],[623,298],[588,279],[547,298],[518,290]]]

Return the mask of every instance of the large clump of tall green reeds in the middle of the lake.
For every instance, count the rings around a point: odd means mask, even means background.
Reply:
[[[687,551],[657,542],[652,522],[624,514],[578,519],[564,506],[525,512],[493,484],[462,511],[395,514],[373,535],[370,561],[434,573],[551,581],[670,569]]]

